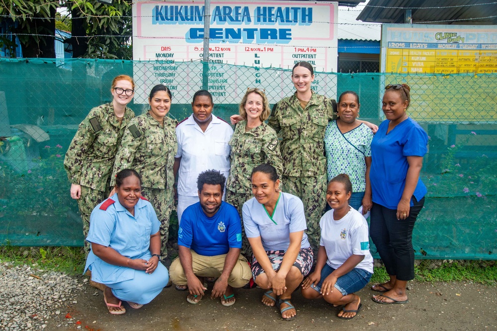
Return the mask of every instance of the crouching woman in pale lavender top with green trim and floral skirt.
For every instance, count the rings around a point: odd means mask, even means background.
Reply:
[[[272,165],[258,165],[251,174],[253,198],[243,208],[245,233],[253,251],[252,277],[266,292],[262,303],[276,306],[290,321],[297,311],[290,302],[293,291],[311,270],[304,204],[295,195],[279,190]],[[279,299],[277,300],[277,296]]]

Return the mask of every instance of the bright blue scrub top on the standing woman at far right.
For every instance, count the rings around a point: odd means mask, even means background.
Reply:
[[[371,142],[371,190],[373,202],[397,209],[406,186],[408,156],[423,157],[427,152],[428,135],[408,117],[387,134],[389,120],[380,124]],[[419,178],[414,190],[416,200],[426,194],[426,186]],[[413,206],[413,199],[411,199]]]

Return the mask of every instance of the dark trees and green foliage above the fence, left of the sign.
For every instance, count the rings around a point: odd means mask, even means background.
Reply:
[[[70,22],[58,14],[59,8],[71,13]],[[0,20],[17,23],[11,32],[19,38],[25,57],[55,57],[49,50],[54,49],[57,25],[71,29],[72,38],[66,42],[73,46],[73,57],[131,59],[131,13],[131,0],[113,0],[110,5],[97,0],[0,1]],[[4,39],[0,37],[0,43],[8,44]]]

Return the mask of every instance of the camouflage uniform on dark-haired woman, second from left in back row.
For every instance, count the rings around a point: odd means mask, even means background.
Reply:
[[[177,151],[175,127],[178,122],[164,117],[164,128],[150,113],[129,122],[116,155],[111,184],[122,169],[135,169],[143,182],[142,195],[146,197],[161,221],[161,258],[167,256],[169,217],[174,209],[174,175],[172,165]]]

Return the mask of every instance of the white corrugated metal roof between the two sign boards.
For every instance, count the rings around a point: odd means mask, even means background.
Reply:
[[[381,39],[381,24],[357,21],[360,13],[359,9],[338,8],[338,39]]]

